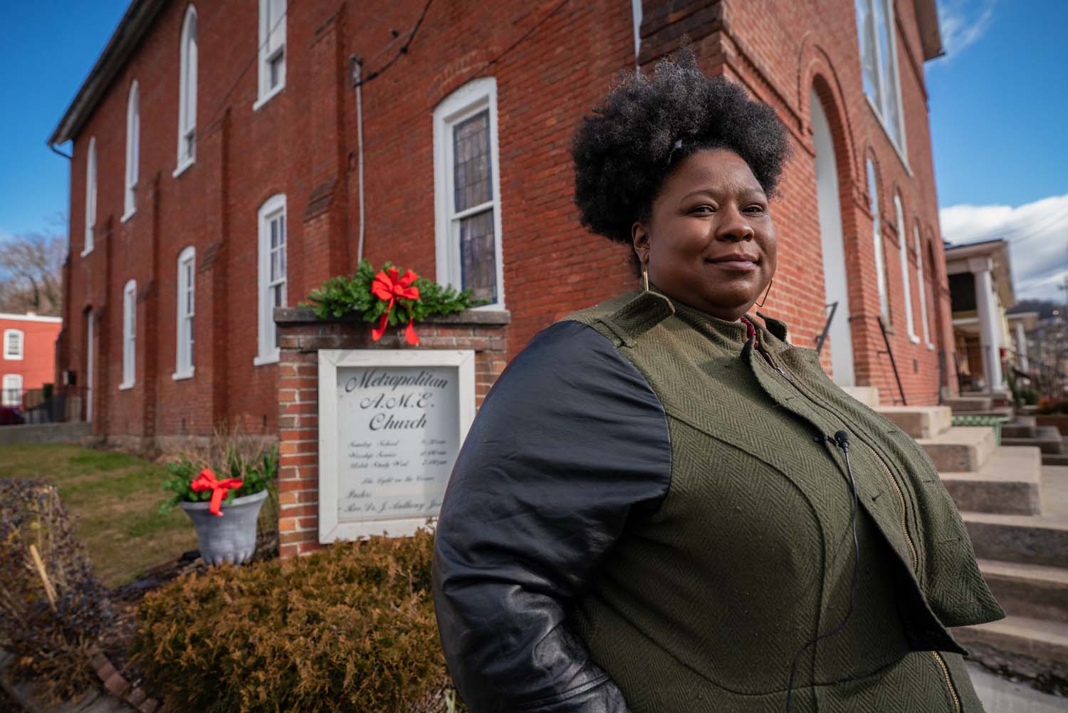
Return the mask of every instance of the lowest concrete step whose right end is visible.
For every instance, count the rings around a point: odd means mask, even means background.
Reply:
[[[1041,514],[1042,464],[1037,448],[1002,446],[979,470],[940,472],[957,509],[1018,515]]]

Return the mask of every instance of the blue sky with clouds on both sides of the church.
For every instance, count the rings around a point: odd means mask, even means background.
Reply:
[[[0,0],[0,242],[56,230],[66,213],[67,161],[45,140],[127,4]],[[943,235],[1026,237],[1012,248],[1017,293],[1056,297],[1068,273],[1068,2],[939,6],[947,56],[926,74]]]

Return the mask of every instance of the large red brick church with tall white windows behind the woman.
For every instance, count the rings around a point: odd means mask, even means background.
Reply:
[[[271,307],[361,254],[509,310],[509,354],[634,286],[578,223],[568,146],[616,73],[684,36],[794,138],[766,311],[812,346],[837,301],[827,368],[889,401],[883,314],[909,402],[937,401],[933,0],[134,0],[50,139],[74,156],[59,369],[96,432],[272,431]]]

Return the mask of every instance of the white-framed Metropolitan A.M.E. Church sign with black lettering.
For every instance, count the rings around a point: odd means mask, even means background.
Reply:
[[[319,350],[319,542],[409,536],[475,412],[474,352]]]

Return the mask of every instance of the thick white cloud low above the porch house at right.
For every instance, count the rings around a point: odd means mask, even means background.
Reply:
[[[942,237],[956,245],[1008,241],[1017,299],[1065,300],[1057,285],[1068,275],[1068,195],[1018,207],[953,205],[939,220]]]

